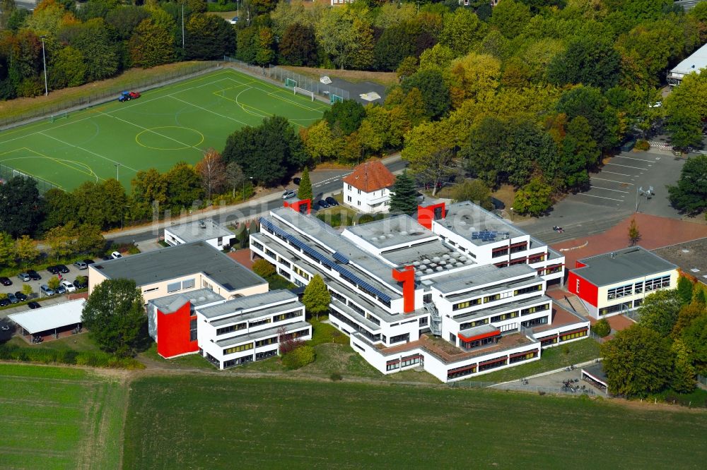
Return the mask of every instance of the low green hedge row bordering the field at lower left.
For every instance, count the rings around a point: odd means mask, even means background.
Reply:
[[[45,349],[18,347],[14,344],[0,346],[0,359],[41,364],[73,364],[76,366],[143,369],[145,366],[134,358],[119,358],[102,351],[74,351],[74,349]]]

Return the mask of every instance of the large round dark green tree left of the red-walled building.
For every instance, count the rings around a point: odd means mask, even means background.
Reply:
[[[144,304],[132,279],[106,279],[93,287],[83,306],[81,322],[100,349],[132,356],[146,332]]]

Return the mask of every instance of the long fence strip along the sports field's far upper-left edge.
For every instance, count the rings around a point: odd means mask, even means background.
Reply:
[[[115,84],[105,88],[104,90],[95,92],[93,95],[69,98],[49,106],[30,109],[23,114],[2,118],[0,119],[0,130],[6,130],[7,128],[19,126],[31,121],[37,121],[38,119],[49,118],[53,114],[77,111],[78,109],[109,102],[117,99],[117,96],[123,90],[144,91],[149,90],[150,88],[158,88],[163,85],[168,85],[174,81],[184,80],[185,78],[189,78],[189,76],[206,73],[206,71],[211,71],[218,67],[219,64],[215,61],[197,62],[195,64],[189,64],[189,66],[185,66],[185,68],[180,68],[180,70],[169,73],[161,73],[160,75],[146,77],[142,80],[135,80],[131,83]]]

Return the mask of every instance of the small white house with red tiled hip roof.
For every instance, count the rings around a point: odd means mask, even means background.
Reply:
[[[358,212],[387,212],[395,176],[380,160],[370,160],[354,168],[344,178],[344,204]]]

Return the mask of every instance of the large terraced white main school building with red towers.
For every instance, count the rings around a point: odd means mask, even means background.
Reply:
[[[341,232],[280,208],[261,218],[250,248],[300,286],[320,275],[332,325],[382,373],[422,366],[460,380],[588,333],[587,320],[556,315],[544,295],[564,257],[471,203]]]

